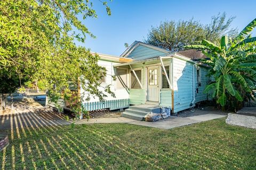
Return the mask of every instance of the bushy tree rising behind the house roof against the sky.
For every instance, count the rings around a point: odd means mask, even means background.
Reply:
[[[230,29],[230,24],[234,17],[226,21],[226,13],[213,16],[211,23],[201,24],[193,19],[189,21],[165,21],[158,27],[152,27],[145,39],[145,43],[158,46],[171,52],[178,52],[184,49],[184,46],[194,44],[202,39],[218,41],[221,36],[228,33],[235,35],[236,29]],[[225,22],[226,21],[226,22]]]

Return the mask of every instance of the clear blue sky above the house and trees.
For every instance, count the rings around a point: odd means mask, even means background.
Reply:
[[[203,24],[210,23],[211,16],[226,12],[227,16],[236,16],[232,27],[241,31],[256,17],[256,0],[243,1],[153,1],[153,0],[106,0],[111,8],[111,16],[97,0],[94,8],[97,19],[87,19],[84,24],[97,37],[87,36],[86,42],[77,45],[90,48],[92,52],[121,55],[125,46],[135,40],[143,41],[151,26],[156,27],[161,21],[189,20],[192,17]]]

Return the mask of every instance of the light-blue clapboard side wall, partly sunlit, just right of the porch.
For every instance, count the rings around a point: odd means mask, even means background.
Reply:
[[[188,109],[193,100],[193,63],[173,58],[174,113]],[[195,72],[196,86],[196,72]]]

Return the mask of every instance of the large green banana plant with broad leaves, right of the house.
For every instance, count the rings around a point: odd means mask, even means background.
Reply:
[[[211,66],[209,76],[214,81],[208,84],[205,93],[211,93],[217,103],[225,110],[225,106],[242,103],[246,97],[252,96],[256,89],[256,37],[251,37],[251,31],[256,27],[256,19],[250,22],[232,40],[223,36],[220,46],[205,39],[200,45],[188,45],[187,49],[202,50],[207,59],[202,63]]]

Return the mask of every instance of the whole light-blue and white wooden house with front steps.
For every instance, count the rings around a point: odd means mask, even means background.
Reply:
[[[210,82],[206,77],[209,67],[191,59],[197,56],[171,53],[140,41],[135,41],[120,57],[98,55],[101,57],[99,65],[107,69],[107,76],[102,78],[102,86],[111,84],[116,98],[107,97],[103,102],[97,97],[92,98],[83,104],[87,111],[148,104],[146,107],[169,107],[172,113],[177,113],[209,99],[203,93]],[[114,81],[111,75],[116,75],[117,80]],[[154,109],[132,106],[122,115],[141,120],[149,111]]]

